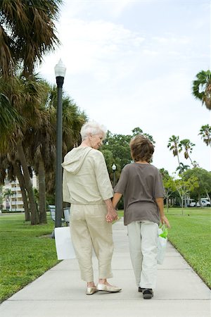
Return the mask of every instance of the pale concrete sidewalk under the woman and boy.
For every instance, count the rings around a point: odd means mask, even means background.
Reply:
[[[1,317],[210,317],[210,290],[182,256],[167,246],[165,263],[158,266],[153,299],[137,291],[129,258],[127,228],[113,225],[113,279],[120,293],[87,296],[76,259],[60,262],[0,305]],[[94,258],[96,270],[96,258]],[[97,281],[97,270],[96,281]]]

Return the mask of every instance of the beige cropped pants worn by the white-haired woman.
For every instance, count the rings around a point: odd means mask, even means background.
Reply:
[[[92,249],[98,259],[98,278],[112,278],[112,225],[106,221],[106,205],[71,204],[70,231],[82,280],[94,280]]]

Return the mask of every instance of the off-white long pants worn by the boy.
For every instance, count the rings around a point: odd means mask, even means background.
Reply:
[[[153,289],[157,280],[158,224],[134,221],[127,225],[127,232],[136,284]]]

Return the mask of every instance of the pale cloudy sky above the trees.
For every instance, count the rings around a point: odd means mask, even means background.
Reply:
[[[191,94],[196,74],[210,69],[210,0],[64,0],[56,29],[61,45],[44,56],[42,77],[56,84],[61,58],[63,90],[90,120],[113,134],[152,135],[153,165],[170,174],[178,162],[168,139],[190,139],[191,159],[211,170],[198,135],[211,112]]]

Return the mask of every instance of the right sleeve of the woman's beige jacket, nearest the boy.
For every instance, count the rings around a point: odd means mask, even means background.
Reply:
[[[110,182],[106,161],[100,151],[96,151],[94,155],[94,171],[98,190],[103,200],[113,197],[113,187]]]

